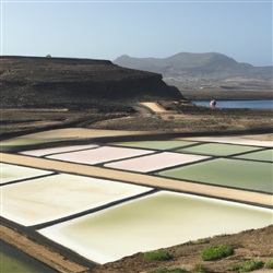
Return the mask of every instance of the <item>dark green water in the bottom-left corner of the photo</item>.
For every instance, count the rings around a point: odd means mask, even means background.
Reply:
[[[8,244],[3,241],[0,241],[0,244],[1,273],[57,273],[57,271],[12,248]]]

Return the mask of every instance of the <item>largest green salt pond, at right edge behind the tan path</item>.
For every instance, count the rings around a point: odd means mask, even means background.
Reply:
[[[218,158],[159,171],[158,175],[181,180],[273,192],[271,163]]]

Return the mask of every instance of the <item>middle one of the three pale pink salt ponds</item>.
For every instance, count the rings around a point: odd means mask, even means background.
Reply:
[[[95,165],[120,158],[151,154],[154,151],[145,151],[140,149],[102,146],[94,150],[50,155],[48,158]]]

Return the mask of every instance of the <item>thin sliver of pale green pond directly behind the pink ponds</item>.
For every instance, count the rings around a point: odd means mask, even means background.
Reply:
[[[131,146],[131,147],[143,147],[143,149],[152,149],[152,150],[170,150],[174,147],[181,147],[195,144],[193,141],[135,141],[135,142],[115,142],[112,145],[118,146]]]

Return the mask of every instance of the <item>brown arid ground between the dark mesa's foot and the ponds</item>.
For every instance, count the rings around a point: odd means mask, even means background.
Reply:
[[[273,110],[210,109],[187,100],[156,100],[153,112],[136,102],[90,104],[84,109],[1,109],[1,139],[58,128],[156,131],[181,134],[232,134],[273,131]]]

